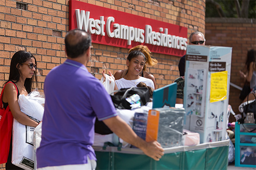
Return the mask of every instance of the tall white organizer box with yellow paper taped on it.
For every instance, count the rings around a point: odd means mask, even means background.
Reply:
[[[185,66],[185,129],[200,143],[225,140],[231,47],[188,45]]]

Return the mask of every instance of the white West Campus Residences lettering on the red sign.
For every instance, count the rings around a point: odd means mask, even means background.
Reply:
[[[85,12],[84,10],[80,11],[80,9],[76,9],[75,14],[78,29],[88,31],[91,34],[105,36],[104,16],[100,16],[100,19],[92,19],[90,18],[90,12]],[[113,28],[111,28],[112,23]],[[169,35],[168,28],[163,29],[160,27],[159,31],[153,31],[151,25],[146,25],[145,30],[143,30],[133,26],[120,25],[115,23],[114,17],[108,17],[106,23],[106,32],[110,38],[127,40],[128,45],[131,45],[132,41],[140,43],[144,43],[145,41],[146,44],[158,45],[178,50],[187,50],[188,39],[175,35]]]

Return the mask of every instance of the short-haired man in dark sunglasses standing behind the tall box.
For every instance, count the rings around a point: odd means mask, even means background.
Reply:
[[[192,32],[189,36],[189,45],[205,45],[205,38],[202,32]],[[185,57],[186,55],[182,56],[179,62],[180,76],[185,75]]]

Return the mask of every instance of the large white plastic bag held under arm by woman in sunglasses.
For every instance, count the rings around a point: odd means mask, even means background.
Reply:
[[[31,119],[40,122],[43,118],[44,96],[33,91],[25,96],[21,94],[18,100],[21,112]],[[13,121],[13,152],[12,163],[24,170],[34,170],[34,127]]]

